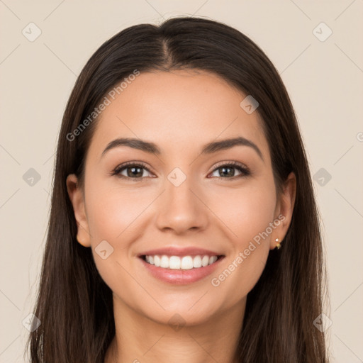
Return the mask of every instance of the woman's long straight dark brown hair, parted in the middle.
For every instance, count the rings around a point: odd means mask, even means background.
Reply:
[[[29,335],[30,362],[104,363],[115,335],[112,291],[101,279],[91,249],[76,240],[66,178],[75,173],[83,183],[97,118],[86,128],[79,125],[135,69],[202,69],[258,101],[277,191],[294,172],[296,200],[281,250],[269,252],[262,276],[247,295],[236,356],[243,363],[328,362],[324,333],[313,325],[328,294],[320,217],[289,95],[277,69],[250,38],[223,23],[191,17],[122,30],[96,50],[79,74],[57,145],[48,238],[33,311],[41,324]]]

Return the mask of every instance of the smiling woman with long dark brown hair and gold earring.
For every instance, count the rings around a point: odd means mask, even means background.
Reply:
[[[264,52],[189,17],[101,45],[60,130],[31,362],[328,362],[323,272]]]

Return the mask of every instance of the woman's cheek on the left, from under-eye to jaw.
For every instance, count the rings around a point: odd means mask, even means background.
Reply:
[[[124,296],[124,291],[133,291],[136,296],[134,298],[143,301],[145,291],[141,287],[139,289],[133,277],[130,277],[130,246],[143,234],[138,224],[140,221],[138,217],[151,203],[152,196],[147,196],[145,193],[140,195],[135,188],[132,191],[131,187],[116,189],[96,179],[94,184],[89,184],[86,193],[92,253],[101,278],[112,291],[116,292],[116,295],[123,296],[125,301],[128,301],[130,296],[128,294]],[[108,255],[108,249],[111,247],[106,244],[108,257],[105,259],[97,252],[100,250],[98,248],[100,242],[104,240],[113,248]],[[134,274],[135,272],[132,273]],[[131,300],[128,301],[130,306],[133,303]]]

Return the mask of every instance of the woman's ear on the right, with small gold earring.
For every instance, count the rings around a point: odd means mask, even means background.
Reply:
[[[289,225],[291,223],[294,205],[296,197],[296,176],[293,172],[287,177],[283,191],[279,195],[277,201],[277,208],[275,210],[275,220],[279,220],[281,223],[274,229],[270,242],[270,250],[274,250],[277,245],[276,238],[279,239],[279,243],[284,240]]]

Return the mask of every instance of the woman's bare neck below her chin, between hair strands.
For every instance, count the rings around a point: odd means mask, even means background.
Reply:
[[[140,315],[113,296],[116,335],[105,363],[237,363],[245,301],[205,323],[172,328]]]

